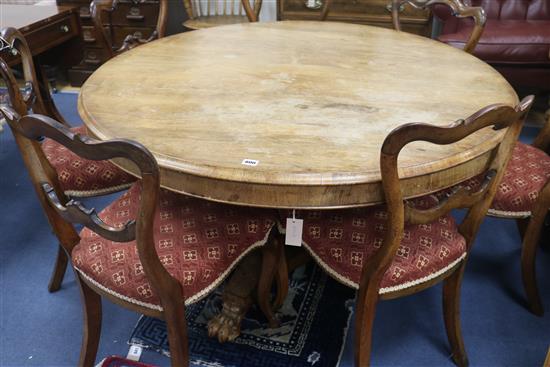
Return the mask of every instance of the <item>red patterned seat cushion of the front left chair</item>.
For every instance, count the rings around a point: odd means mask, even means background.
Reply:
[[[126,223],[137,215],[140,194],[141,186],[135,184],[99,216],[114,226]],[[159,258],[183,285],[189,304],[217,286],[244,254],[264,245],[274,223],[271,211],[217,204],[162,190],[153,231]],[[108,241],[89,229],[80,236],[72,261],[82,276],[117,297],[160,309],[135,241]]]

